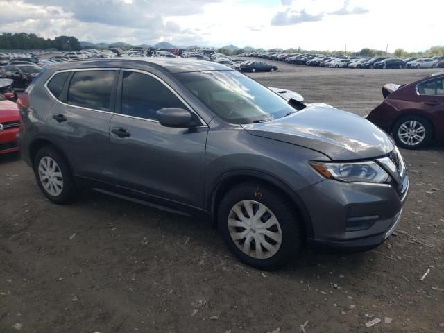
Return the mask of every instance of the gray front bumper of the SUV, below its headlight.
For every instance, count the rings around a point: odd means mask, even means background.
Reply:
[[[382,244],[398,227],[409,191],[389,184],[346,183],[324,180],[299,191],[311,217],[314,247],[367,250]]]

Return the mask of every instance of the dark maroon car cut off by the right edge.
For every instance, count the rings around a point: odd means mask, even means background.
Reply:
[[[391,133],[402,148],[417,149],[432,139],[444,144],[444,72],[409,85],[382,87],[385,97],[367,119]]]

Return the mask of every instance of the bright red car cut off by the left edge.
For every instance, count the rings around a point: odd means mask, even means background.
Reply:
[[[14,94],[8,93],[9,98],[13,96]],[[16,139],[19,126],[20,114],[17,104],[0,94],[0,155],[19,150]]]

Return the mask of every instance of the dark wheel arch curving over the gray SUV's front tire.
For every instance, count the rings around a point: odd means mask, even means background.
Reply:
[[[211,187],[210,194],[207,196],[205,210],[209,211],[212,216],[214,225],[217,223],[217,214],[219,211],[219,204],[223,196],[234,186],[241,182],[257,181],[264,185],[273,187],[285,196],[293,205],[294,212],[298,219],[302,222],[303,233],[305,237],[311,237],[313,234],[313,226],[311,225],[311,218],[307,207],[299,198],[293,189],[291,189],[282,180],[275,178],[267,173],[260,171],[230,171],[220,176]]]

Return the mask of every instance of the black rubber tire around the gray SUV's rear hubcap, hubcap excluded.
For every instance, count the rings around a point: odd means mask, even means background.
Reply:
[[[39,177],[39,164],[40,160],[42,160],[43,157],[51,157],[56,163],[58,164],[58,167],[60,169],[60,172],[62,173],[62,191],[60,195],[53,196],[49,194],[48,191],[44,188],[42,185],[42,181]],[[67,205],[69,203],[72,203],[78,194],[78,189],[76,187],[76,183],[74,182],[74,177],[71,174],[71,170],[68,167],[67,162],[65,161],[65,158],[58,153],[57,149],[53,146],[44,146],[40,148],[39,151],[37,151],[37,154],[35,155],[34,161],[33,161],[33,169],[35,174],[35,179],[37,180],[37,185],[40,187],[40,190],[43,192],[44,196],[48,198],[51,202],[56,203],[58,205]]]

